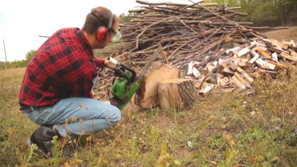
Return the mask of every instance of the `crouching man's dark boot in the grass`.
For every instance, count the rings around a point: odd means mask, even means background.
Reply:
[[[31,135],[27,145],[36,144],[38,147],[36,151],[41,152],[45,158],[49,159],[49,154],[54,146],[53,137],[56,135],[61,137],[58,130],[53,129],[53,126],[42,125]]]

